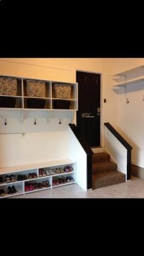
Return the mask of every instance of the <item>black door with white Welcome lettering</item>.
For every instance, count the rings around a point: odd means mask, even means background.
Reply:
[[[90,147],[100,145],[100,75],[76,72],[77,128]]]

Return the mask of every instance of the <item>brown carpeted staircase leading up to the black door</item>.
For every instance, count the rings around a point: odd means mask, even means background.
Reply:
[[[117,164],[110,161],[109,154],[93,154],[93,189],[103,188],[125,181],[126,175],[118,172]]]

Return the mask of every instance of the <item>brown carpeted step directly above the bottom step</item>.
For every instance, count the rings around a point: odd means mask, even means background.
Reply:
[[[117,171],[117,164],[115,164],[111,161],[93,163],[93,174],[94,175],[101,173],[101,172],[110,172],[110,171]]]

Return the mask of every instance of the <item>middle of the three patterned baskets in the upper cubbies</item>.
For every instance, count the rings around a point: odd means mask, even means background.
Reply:
[[[26,81],[26,93],[27,97],[40,97],[45,98],[45,82],[39,80],[27,80]]]

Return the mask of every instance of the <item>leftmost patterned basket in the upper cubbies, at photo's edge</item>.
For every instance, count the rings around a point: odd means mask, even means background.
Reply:
[[[17,94],[17,79],[0,77],[0,94],[1,95],[12,95]]]

